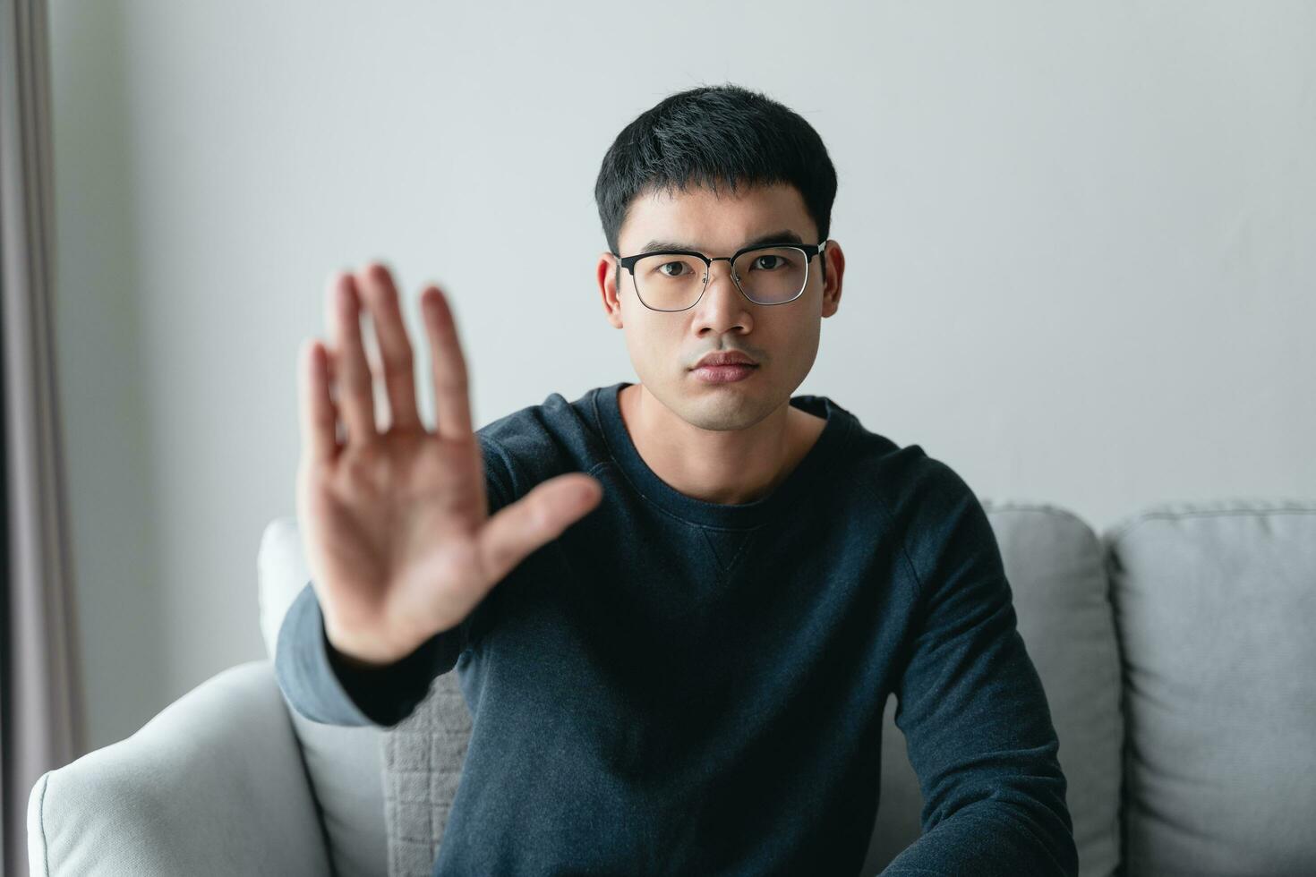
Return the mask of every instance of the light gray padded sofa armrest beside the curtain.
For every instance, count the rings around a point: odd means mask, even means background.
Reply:
[[[270,660],[230,667],[126,740],[49,770],[32,874],[326,874],[328,848]]]

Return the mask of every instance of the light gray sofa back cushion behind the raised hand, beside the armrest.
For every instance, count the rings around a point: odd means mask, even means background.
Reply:
[[[270,522],[261,538],[257,567],[261,635],[272,660],[283,617],[311,580],[296,518]],[[290,710],[290,714],[329,838],[334,873],[341,877],[384,877],[388,857],[382,730],[374,726],[321,724],[296,710]]]

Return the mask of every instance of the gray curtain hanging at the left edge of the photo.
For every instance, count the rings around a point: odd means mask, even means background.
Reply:
[[[0,851],[28,869],[26,811],[83,752],[82,688],[54,347],[55,256],[45,0],[0,0]]]

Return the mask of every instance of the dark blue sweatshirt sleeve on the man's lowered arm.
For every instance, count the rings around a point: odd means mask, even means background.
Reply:
[[[923,835],[882,873],[1076,874],[1059,744],[996,536],[969,485],[928,460],[932,486],[907,543],[920,622],[895,714]]]

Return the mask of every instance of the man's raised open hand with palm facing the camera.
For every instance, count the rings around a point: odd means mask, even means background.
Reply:
[[[362,300],[383,360],[391,414],[384,430],[376,427],[375,375],[362,343]],[[453,312],[434,285],[421,291],[420,302],[430,346],[434,433],[420,422],[412,346],[383,264],[332,276],[333,344],[312,338],[299,351],[303,548],[325,635],[358,667],[393,663],[459,625],[521,560],[603,497],[596,479],[572,472],[488,515]],[[338,389],[337,400],[330,385]]]

